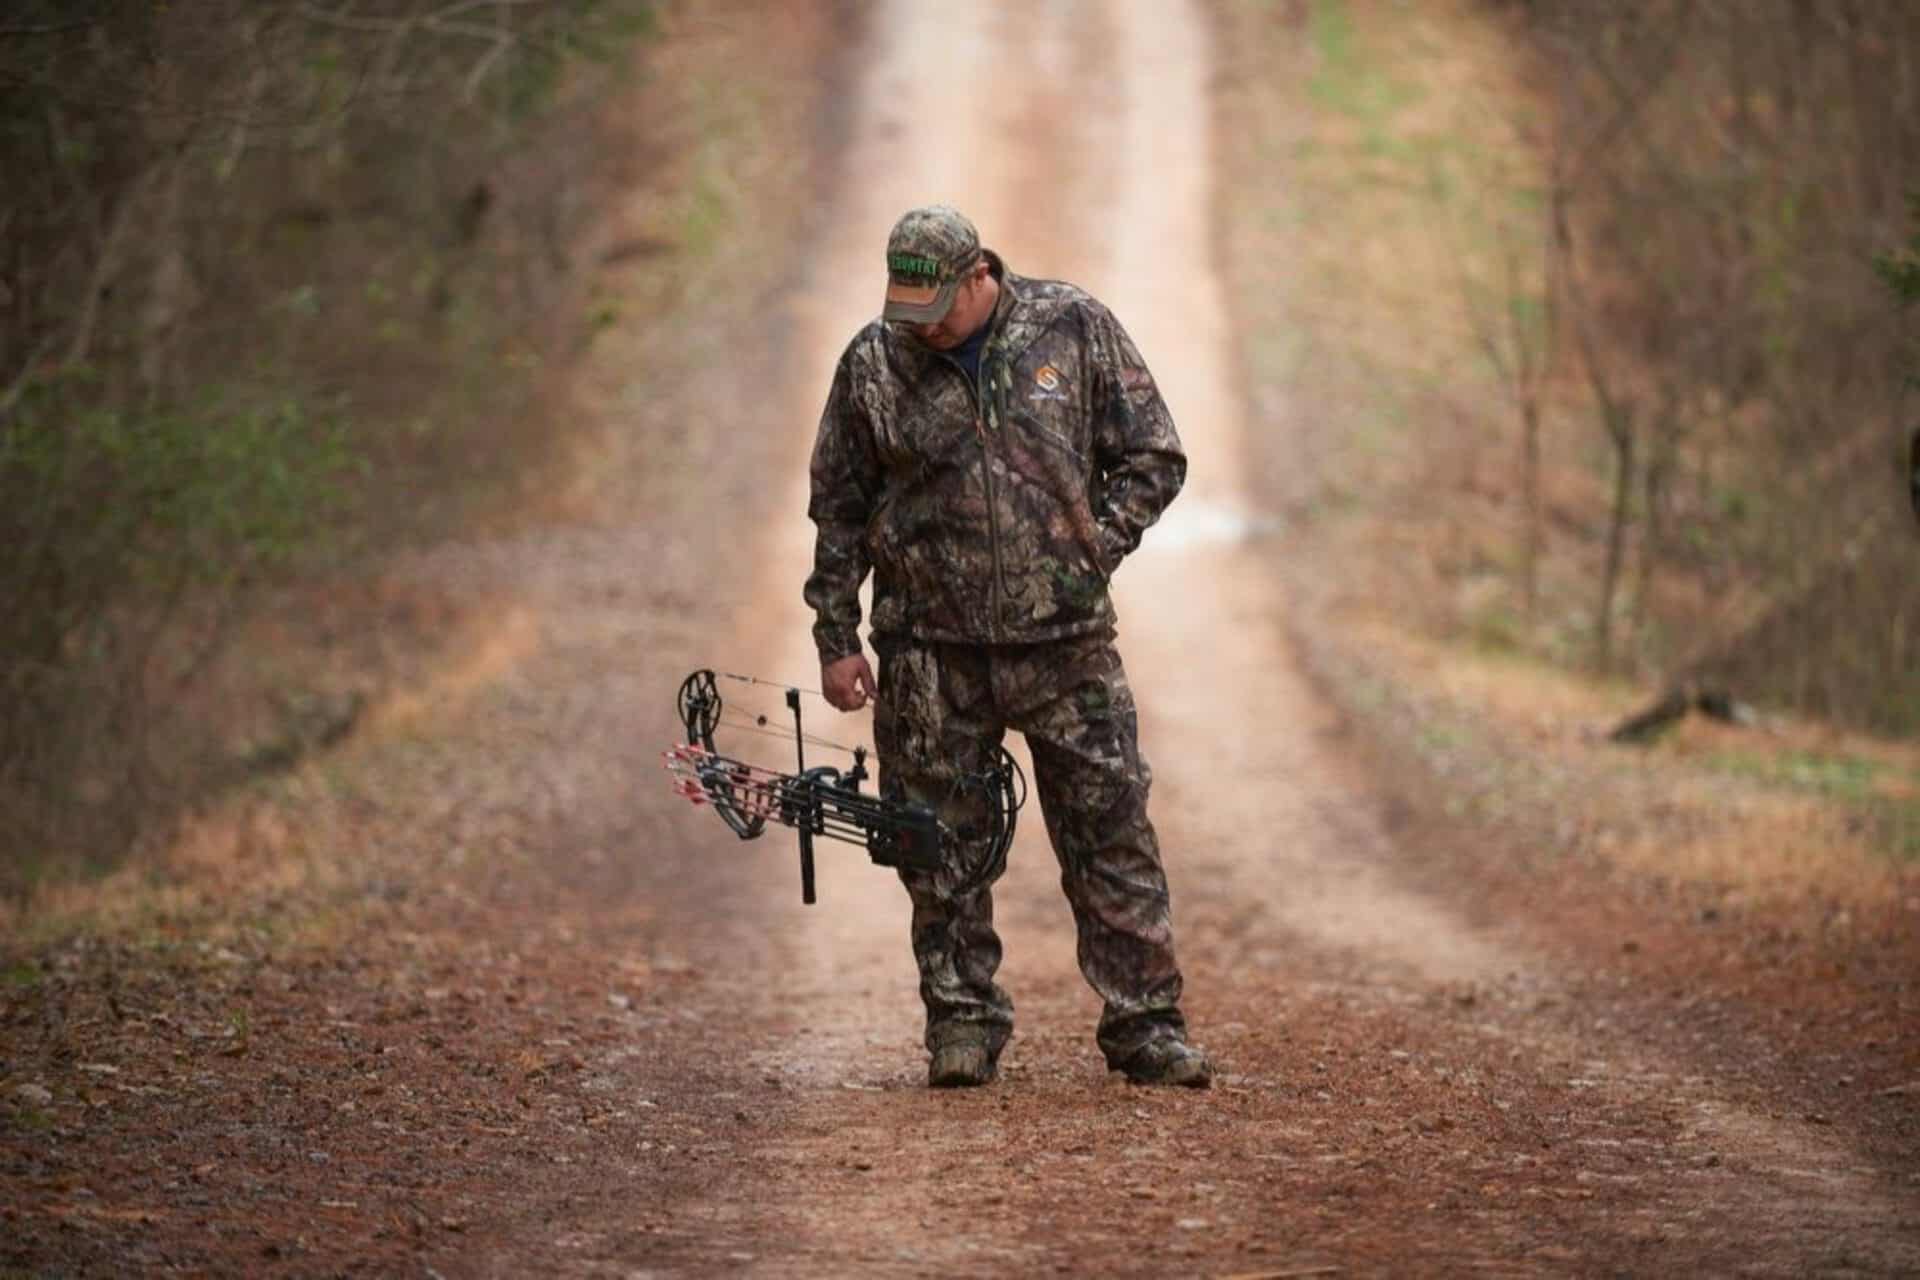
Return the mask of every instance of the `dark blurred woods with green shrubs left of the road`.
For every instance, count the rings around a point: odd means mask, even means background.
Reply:
[[[0,833],[111,856],[344,733],[275,587],[538,484],[645,0],[46,0],[0,17]],[[324,643],[324,641],[323,641]],[[234,645],[259,668],[213,685]],[[230,681],[225,681],[230,685]],[[236,733],[234,722],[246,731]],[[257,722],[257,723],[255,723]]]

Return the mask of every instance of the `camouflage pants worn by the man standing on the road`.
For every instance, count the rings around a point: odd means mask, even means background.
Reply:
[[[1033,754],[1033,785],[1079,929],[1079,967],[1100,994],[1108,1065],[1142,1044],[1185,1038],[1181,971],[1160,844],[1146,819],[1152,771],[1139,750],[1127,674],[1110,633],[1046,645],[937,645],[877,639],[874,745],[881,787],[899,787],[960,827],[973,819],[954,781],[991,762],[1006,729]],[[1031,814],[1031,810],[1029,810]],[[1014,1004],[993,981],[1000,936],[993,885],[954,894],[962,867],[902,871],[914,902],[914,960],[927,1007],[927,1048],[981,1040],[998,1055]]]

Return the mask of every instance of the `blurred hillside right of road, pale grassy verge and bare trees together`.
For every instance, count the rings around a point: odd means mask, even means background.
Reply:
[[[1920,8],[1235,12],[1306,117],[1229,140],[1256,411],[1315,405],[1286,453],[1373,530],[1369,589],[1674,704],[1914,735]]]

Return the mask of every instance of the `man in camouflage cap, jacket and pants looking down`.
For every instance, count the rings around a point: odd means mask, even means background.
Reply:
[[[964,831],[979,823],[956,781],[989,766],[1006,729],[1025,735],[1108,1065],[1206,1086],[1108,599],[1185,478],[1173,420],[1106,307],[1014,274],[958,211],[900,217],[887,274],[885,311],[841,355],[812,455],[822,689],[841,710],[874,699],[883,793]],[[877,681],[858,631],[868,570]],[[993,981],[991,879],[973,883],[970,865],[900,879],[927,1079],[985,1084],[1014,1025]]]

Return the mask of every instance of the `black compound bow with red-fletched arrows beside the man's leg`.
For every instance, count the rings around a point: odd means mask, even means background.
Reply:
[[[868,779],[864,747],[852,748],[851,770],[806,768],[806,743],[847,748],[803,731],[801,689],[787,689],[797,764],[793,773],[722,756],[714,748],[714,729],[720,727],[726,706],[718,679],[718,674],[701,668],[682,681],[676,706],[687,741],[662,752],[666,771],[674,775],[674,791],[693,804],[710,804],[743,841],[762,835],[770,821],[799,831],[801,902],[814,902],[816,835],[858,844],[881,867],[929,873],[964,869],[966,875],[948,890],[952,896],[973,892],[1006,867],[1014,819],[1027,798],[1027,779],[1004,747],[993,748],[985,770],[958,777],[941,810],[910,800],[899,789],[883,796],[868,794],[860,791],[860,783]],[[753,676],[728,679],[768,683]],[[756,716],[743,727],[768,733],[766,716]],[[970,821],[948,825],[941,812],[964,814]],[[973,854],[972,867],[964,865],[970,862],[968,854]]]

